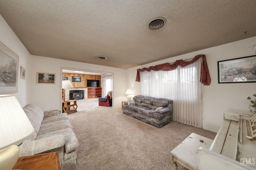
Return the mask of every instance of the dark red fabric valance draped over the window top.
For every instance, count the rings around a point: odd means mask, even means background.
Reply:
[[[208,65],[206,62],[206,56],[204,54],[196,55],[191,61],[184,61],[184,60],[180,59],[180,60],[176,60],[172,64],[164,63],[164,64],[155,65],[155,66],[150,66],[148,68],[144,67],[142,69],[137,69],[136,81],[140,82],[140,72],[151,71],[151,70],[153,70],[153,71],[160,71],[160,70],[171,71],[171,70],[176,69],[178,66],[185,67],[191,63],[194,63],[200,57],[202,57],[200,82],[203,83],[204,85],[210,85],[211,77],[210,77]]]

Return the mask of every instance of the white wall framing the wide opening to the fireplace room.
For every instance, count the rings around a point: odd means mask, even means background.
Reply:
[[[61,109],[62,101],[62,74],[61,67],[86,69],[91,71],[106,71],[113,73],[113,108],[120,108],[123,100],[126,99],[126,70],[114,67],[106,67],[49,57],[32,55],[31,57],[31,103],[35,103],[42,110]],[[36,83],[37,72],[55,73],[55,84],[38,84]]]

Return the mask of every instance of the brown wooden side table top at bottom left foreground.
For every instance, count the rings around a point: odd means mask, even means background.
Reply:
[[[58,152],[22,156],[13,169],[21,170],[61,170]]]

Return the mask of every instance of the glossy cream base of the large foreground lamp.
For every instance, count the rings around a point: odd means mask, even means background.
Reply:
[[[20,154],[20,148],[16,145],[0,150],[0,170],[12,170]]]

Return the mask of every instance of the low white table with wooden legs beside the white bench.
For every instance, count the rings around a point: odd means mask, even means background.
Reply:
[[[177,163],[189,169],[196,170],[196,151],[200,147],[209,149],[213,140],[191,133],[183,142],[171,151],[173,170],[177,170]]]

